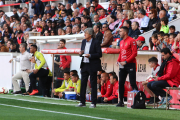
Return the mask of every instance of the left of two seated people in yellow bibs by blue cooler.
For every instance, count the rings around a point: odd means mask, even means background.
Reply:
[[[64,81],[61,87],[54,89],[52,92],[54,95],[59,96],[62,92],[64,92],[66,89],[69,89],[73,86],[73,83],[70,79],[70,73],[64,72]]]

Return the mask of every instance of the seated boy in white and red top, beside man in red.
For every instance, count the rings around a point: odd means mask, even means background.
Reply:
[[[150,100],[147,104],[153,104],[154,103],[154,93],[147,87],[147,84],[148,82],[151,82],[151,79],[156,76],[157,72],[159,71],[160,69],[160,66],[158,64],[158,59],[156,57],[152,57],[148,60],[149,62],[149,66],[152,68],[152,72],[151,72],[151,76],[149,77],[148,80],[146,81],[143,81],[142,82],[142,85],[144,87],[144,89],[149,93],[149,95],[151,96],[150,97]],[[156,100],[155,102],[158,102],[159,101],[159,98],[156,97]]]

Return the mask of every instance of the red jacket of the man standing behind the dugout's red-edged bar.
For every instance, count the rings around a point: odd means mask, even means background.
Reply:
[[[67,49],[66,47],[64,47],[63,49]],[[60,66],[59,67],[63,67],[65,68],[70,68],[70,63],[71,63],[71,56],[68,55],[60,55]]]

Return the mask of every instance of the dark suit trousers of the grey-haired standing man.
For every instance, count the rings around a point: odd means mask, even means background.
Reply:
[[[85,95],[88,77],[90,76],[91,83],[91,101],[92,104],[96,104],[97,101],[97,72],[92,72],[90,70],[90,64],[84,63],[81,68],[81,91],[80,91],[80,101],[85,104]]]

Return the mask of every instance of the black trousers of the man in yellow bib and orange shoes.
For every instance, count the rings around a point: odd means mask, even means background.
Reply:
[[[43,96],[46,94],[46,84],[48,80],[49,70],[41,68],[36,74],[31,73],[29,75],[30,78],[30,87],[32,90],[36,89],[36,78],[39,77],[39,82],[42,84],[42,94]]]

